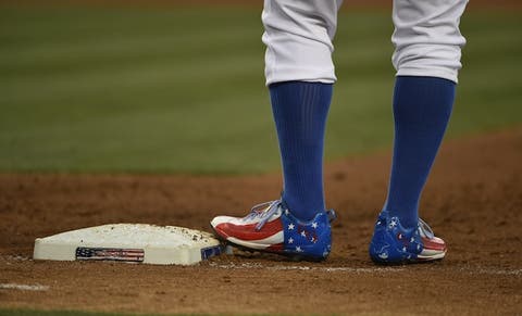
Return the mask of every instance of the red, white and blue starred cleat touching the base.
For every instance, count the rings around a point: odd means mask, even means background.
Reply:
[[[333,210],[312,220],[297,219],[281,201],[258,204],[245,217],[217,216],[210,225],[219,239],[246,250],[278,253],[296,260],[325,260],[332,250]]]

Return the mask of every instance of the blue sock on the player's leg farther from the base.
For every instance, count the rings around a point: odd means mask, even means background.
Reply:
[[[435,77],[397,77],[395,146],[384,211],[415,227],[419,200],[451,115],[455,83]]]

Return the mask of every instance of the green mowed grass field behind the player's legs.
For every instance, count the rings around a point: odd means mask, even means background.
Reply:
[[[389,12],[344,11],[330,160],[389,148]],[[449,136],[522,123],[519,12],[470,11]],[[260,173],[279,157],[256,8],[0,7],[0,172]]]

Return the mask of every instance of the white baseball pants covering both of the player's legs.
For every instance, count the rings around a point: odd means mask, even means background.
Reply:
[[[264,0],[266,85],[335,83],[332,40],[343,0]],[[391,58],[398,76],[439,77],[457,83],[459,30],[468,0],[394,0]]]

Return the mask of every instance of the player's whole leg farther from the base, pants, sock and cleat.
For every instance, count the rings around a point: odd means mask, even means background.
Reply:
[[[394,1],[395,143],[388,195],[370,244],[375,262],[446,254],[445,242],[419,219],[418,208],[451,114],[465,42],[459,21],[467,2]]]

